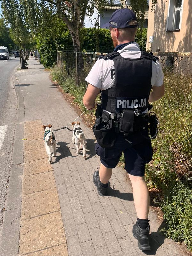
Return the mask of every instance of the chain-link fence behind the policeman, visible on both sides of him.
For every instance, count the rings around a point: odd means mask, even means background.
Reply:
[[[75,75],[77,84],[84,82],[95,61],[107,53],[100,52],[62,52],[57,51],[57,61],[65,66],[69,76]],[[160,52],[154,53],[159,57],[163,70],[170,70],[175,74],[192,76],[192,53]]]

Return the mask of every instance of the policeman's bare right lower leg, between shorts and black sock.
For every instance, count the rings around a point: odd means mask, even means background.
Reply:
[[[133,198],[137,217],[147,219],[149,214],[149,191],[144,177],[133,176],[129,174],[133,187]]]

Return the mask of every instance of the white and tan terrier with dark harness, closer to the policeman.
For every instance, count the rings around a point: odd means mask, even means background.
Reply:
[[[84,132],[80,128],[79,122],[72,122],[73,125],[73,137],[72,142],[76,146],[77,154],[80,153],[80,149],[83,148],[83,158],[86,159],[86,139],[84,136]]]

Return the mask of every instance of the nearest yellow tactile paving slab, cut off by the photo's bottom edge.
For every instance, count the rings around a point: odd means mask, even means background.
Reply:
[[[20,254],[20,256],[23,254]],[[66,244],[60,244],[58,246],[54,246],[52,248],[49,249],[45,249],[39,252],[33,252],[33,253],[29,253],[27,254],[27,256],[67,256],[68,252],[67,252],[67,246]]]

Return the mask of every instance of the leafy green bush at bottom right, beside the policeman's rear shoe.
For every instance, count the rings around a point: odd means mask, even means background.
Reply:
[[[191,185],[191,184],[190,184]],[[192,193],[191,186],[178,181],[161,205],[168,228],[167,237],[184,241],[192,249]]]

